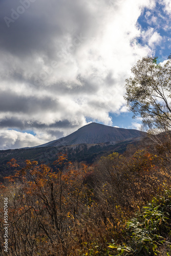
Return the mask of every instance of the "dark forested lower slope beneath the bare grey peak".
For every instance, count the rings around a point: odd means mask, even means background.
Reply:
[[[3,177],[12,174],[13,169],[7,162],[12,158],[17,161],[20,166],[25,165],[25,161],[38,161],[38,163],[51,164],[57,159],[59,153],[67,154],[69,161],[84,161],[92,164],[97,158],[112,154],[113,152],[123,153],[130,144],[137,146],[141,137],[127,139],[118,143],[106,142],[97,144],[76,144],[68,146],[44,146],[36,148],[19,148],[16,150],[0,151],[0,182]]]

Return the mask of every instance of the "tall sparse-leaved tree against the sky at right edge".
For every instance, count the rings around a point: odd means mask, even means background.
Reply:
[[[171,129],[171,59],[157,63],[157,57],[143,57],[126,79],[126,95],[133,118],[141,117],[148,129],[157,132]]]

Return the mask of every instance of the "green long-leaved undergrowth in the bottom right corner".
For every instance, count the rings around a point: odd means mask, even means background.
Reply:
[[[154,198],[147,206],[126,223],[123,237],[125,242],[109,245],[117,254],[109,255],[171,255],[171,191],[165,191],[161,197]],[[160,247],[165,244],[165,254]]]

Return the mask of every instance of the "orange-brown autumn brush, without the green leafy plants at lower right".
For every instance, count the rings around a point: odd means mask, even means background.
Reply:
[[[169,184],[161,161],[145,150],[130,158],[113,153],[94,166],[79,168],[62,154],[53,169],[30,160],[22,168],[12,159],[9,164],[16,167],[15,173],[5,178],[6,185],[0,184],[10,206],[9,252],[105,255],[111,239],[122,240],[134,210]],[[0,207],[3,212],[2,200]],[[3,238],[2,213],[0,223]]]

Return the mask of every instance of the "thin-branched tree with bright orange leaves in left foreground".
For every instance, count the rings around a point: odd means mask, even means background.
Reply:
[[[0,198],[0,234],[4,239],[0,242],[0,254],[5,242],[4,197],[9,203],[9,255],[72,253],[73,244],[78,243],[74,236],[79,220],[89,214],[84,184],[87,165],[82,164],[77,170],[62,154],[53,163],[55,172],[37,161],[26,160],[25,167],[20,167],[15,159],[9,164],[16,170],[5,178],[7,188],[0,184],[0,191],[5,193]]]

